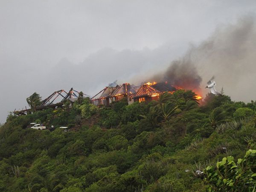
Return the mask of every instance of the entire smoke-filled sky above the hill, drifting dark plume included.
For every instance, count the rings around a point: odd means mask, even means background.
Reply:
[[[198,88],[214,75],[217,90],[255,100],[255,10],[255,0],[1,0],[0,123],[34,92],[93,96],[116,79]]]

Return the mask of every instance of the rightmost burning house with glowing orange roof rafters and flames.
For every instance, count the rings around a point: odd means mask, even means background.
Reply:
[[[171,84],[167,82],[160,83],[145,83],[140,86],[137,92],[134,94],[134,102],[152,101],[159,99],[160,94],[164,92],[174,92],[176,90]]]

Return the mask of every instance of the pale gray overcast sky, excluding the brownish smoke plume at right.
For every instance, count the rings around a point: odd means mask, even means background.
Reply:
[[[35,91],[93,95],[163,70],[255,12],[255,0],[0,0],[0,122]]]

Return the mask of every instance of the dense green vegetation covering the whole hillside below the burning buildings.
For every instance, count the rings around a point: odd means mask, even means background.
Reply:
[[[205,101],[179,90],[96,108],[80,96],[71,108],[10,114],[0,127],[0,191],[256,191],[256,102]]]

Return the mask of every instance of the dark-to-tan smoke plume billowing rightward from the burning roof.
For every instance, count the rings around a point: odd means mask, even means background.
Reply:
[[[234,100],[256,99],[256,25],[254,17],[243,17],[235,24],[218,26],[201,44],[173,61],[168,69],[150,78],[189,89],[204,89],[215,76],[216,88]]]

